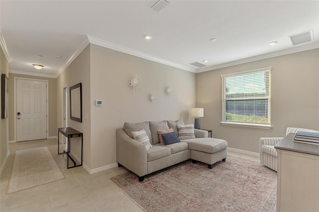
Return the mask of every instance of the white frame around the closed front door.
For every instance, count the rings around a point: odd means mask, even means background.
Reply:
[[[14,77],[13,78],[13,93],[14,93],[14,142],[16,142],[16,80],[32,80],[32,81],[41,81],[46,84],[46,139],[49,138],[49,80],[44,79],[33,79],[33,78],[25,78],[25,77]]]

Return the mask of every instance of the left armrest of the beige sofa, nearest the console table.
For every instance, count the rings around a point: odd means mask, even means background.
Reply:
[[[123,128],[116,129],[116,161],[139,177],[148,174],[145,146],[128,136]]]

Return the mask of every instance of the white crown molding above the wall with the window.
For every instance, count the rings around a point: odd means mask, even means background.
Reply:
[[[275,52],[271,52],[271,53],[267,53],[267,54],[261,54],[258,56],[248,57],[245,59],[240,59],[240,60],[222,63],[222,64],[218,64],[218,65],[212,65],[212,66],[208,66],[208,67],[198,68],[196,73],[211,71],[211,70],[215,70],[215,69],[219,69],[219,68],[225,68],[225,67],[229,67],[229,66],[233,66],[233,65],[239,65],[239,64],[243,64],[243,63],[247,63],[247,62],[254,62],[254,61],[268,59],[268,58],[272,58],[272,57],[283,56],[286,54],[293,54],[293,53],[307,51],[307,50],[311,50],[311,49],[315,49],[315,48],[319,48],[319,42],[312,42],[310,44],[305,44],[305,45],[298,46],[298,47],[288,48],[288,49],[275,51]]]

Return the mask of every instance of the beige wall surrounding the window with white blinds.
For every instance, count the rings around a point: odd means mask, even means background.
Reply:
[[[256,129],[222,126],[220,75],[264,67],[271,72],[271,125]],[[201,127],[225,139],[231,148],[259,152],[260,137],[284,137],[287,127],[319,129],[319,49],[313,49],[196,74]]]

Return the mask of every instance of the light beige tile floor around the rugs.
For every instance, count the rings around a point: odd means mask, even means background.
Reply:
[[[14,153],[48,147],[64,180],[6,195]],[[83,167],[66,168],[66,156],[57,154],[57,140],[9,144],[10,155],[0,175],[0,212],[144,212],[109,179],[127,172],[112,168],[90,175]],[[259,161],[259,157],[228,151],[229,155]]]

